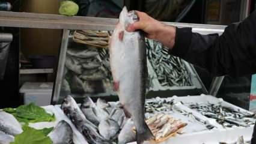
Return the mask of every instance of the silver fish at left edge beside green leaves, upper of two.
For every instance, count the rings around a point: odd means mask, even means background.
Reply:
[[[22,133],[22,127],[13,115],[0,110],[0,131],[16,136]]]

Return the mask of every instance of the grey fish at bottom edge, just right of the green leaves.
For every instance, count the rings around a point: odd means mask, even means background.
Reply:
[[[73,130],[66,121],[59,121],[48,134],[53,144],[73,144]]]

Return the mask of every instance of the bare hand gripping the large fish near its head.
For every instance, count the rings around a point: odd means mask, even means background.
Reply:
[[[141,11],[136,11],[136,13],[139,16],[139,21],[127,26],[126,30],[129,32],[142,30],[147,38],[158,40],[164,46],[172,49],[175,42],[175,27],[160,23]]]

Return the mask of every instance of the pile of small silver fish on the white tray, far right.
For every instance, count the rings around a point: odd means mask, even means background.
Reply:
[[[221,106],[221,104],[186,104],[190,109],[197,110],[207,118],[216,119],[216,122],[223,127],[249,127],[255,124],[254,115],[250,113],[239,112],[230,107]]]

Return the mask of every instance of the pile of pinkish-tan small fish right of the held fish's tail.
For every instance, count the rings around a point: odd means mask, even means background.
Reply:
[[[158,114],[147,119],[147,124],[153,132],[156,142],[162,142],[173,134],[177,133],[180,128],[187,124],[169,115]]]

